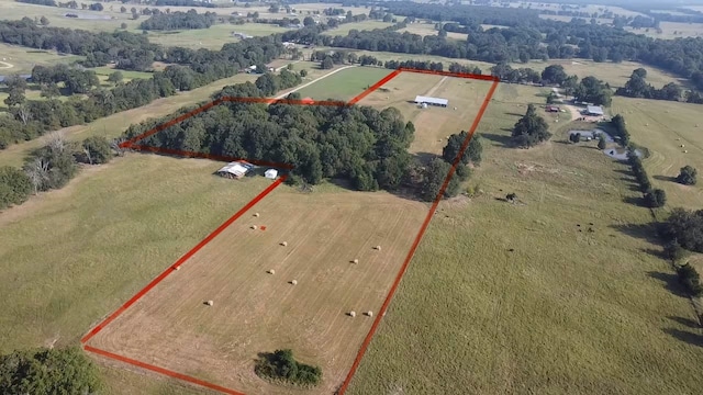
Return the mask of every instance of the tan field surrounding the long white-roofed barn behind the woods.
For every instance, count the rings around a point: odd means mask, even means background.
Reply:
[[[447,136],[471,128],[490,86],[491,82],[473,79],[403,71],[358,104],[397,108],[415,125],[410,151],[421,156],[442,155]],[[413,102],[416,95],[448,99],[449,104],[421,109]]]

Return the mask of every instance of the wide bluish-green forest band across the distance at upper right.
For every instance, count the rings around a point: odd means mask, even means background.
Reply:
[[[699,90],[703,89],[703,38],[655,40],[579,19],[568,23],[540,19],[537,10],[414,2],[387,2],[383,5],[393,14],[448,22],[444,30],[466,33],[468,40],[458,42],[387,30],[333,37],[320,34],[324,30],[320,25],[287,32],[283,38],[321,46],[489,63],[574,57],[594,61],[634,60],[689,78]],[[484,31],[481,24],[506,29]]]

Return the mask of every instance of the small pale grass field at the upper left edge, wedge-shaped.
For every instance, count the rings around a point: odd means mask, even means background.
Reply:
[[[32,49],[0,43],[0,76],[32,74],[36,65],[51,66],[57,63],[80,60],[81,56],[58,55],[55,52]],[[12,66],[12,67],[9,67]]]

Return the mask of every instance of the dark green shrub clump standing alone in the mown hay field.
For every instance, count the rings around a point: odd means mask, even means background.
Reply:
[[[293,351],[276,350],[274,353],[265,353],[257,361],[254,372],[274,382],[287,384],[314,386],[322,380],[322,369],[295,361]]]

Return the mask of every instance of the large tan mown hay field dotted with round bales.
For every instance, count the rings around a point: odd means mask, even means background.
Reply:
[[[246,394],[290,393],[254,373],[258,353],[290,348],[323,370],[295,393],[332,394],[426,215],[383,192],[278,187],[88,343]]]

